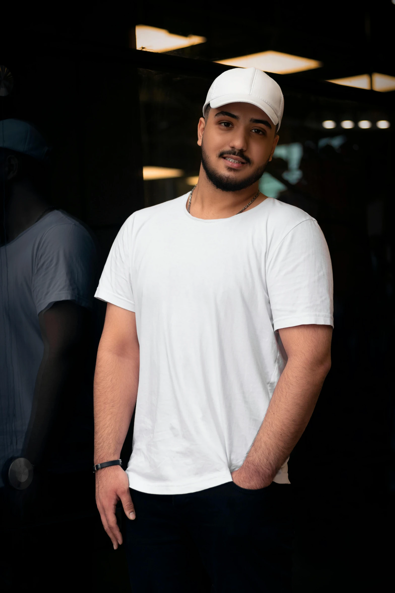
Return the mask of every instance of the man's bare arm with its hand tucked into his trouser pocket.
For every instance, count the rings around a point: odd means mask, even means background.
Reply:
[[[278,332],[288,361],[242,466],[232,472],[233,482],[242,488],[272,482],[303,434],[330,369],[331,326],[301,325]]]

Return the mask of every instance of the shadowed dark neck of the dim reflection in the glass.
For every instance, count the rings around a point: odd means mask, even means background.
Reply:
[[[7,243],[31,227],[48,207],[48,203],[30,184],[15,183],[9,188],[5,207]]]

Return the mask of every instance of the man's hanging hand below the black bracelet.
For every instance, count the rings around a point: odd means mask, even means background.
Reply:
[[[96,503],[104,530],[113,542],[114,550],[122,543],[122,534],[115,517],[115,508],[121,500],[126,517],[135,519],[126,471],[120,466],[104,467],[96,472]]]

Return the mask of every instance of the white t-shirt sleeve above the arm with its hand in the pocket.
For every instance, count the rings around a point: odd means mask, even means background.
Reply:
[[[304,324],[333,327],[332,264],[315,220],[300,222],[274,247],[266,285],[274,330]]]

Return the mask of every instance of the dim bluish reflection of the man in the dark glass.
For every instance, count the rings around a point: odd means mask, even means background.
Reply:
[[[29,480],[18,463],[9,473],[15,458],[34,467],[33,483],[43,468],[76,471],[84,458],[84,435],[69,428],[83,413],[95,246],[50,205],[48,152],[30,124],[0,122],[0,465],[8,488]]]

